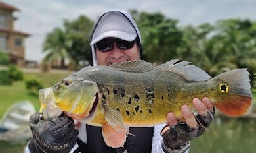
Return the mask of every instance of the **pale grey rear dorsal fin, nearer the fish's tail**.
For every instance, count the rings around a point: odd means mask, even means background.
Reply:
[[[175,73],[188,82],[199,82],[199,81],[206,81],[211,78],[205,71],[196,67],[195,65],[190,65],[188,61],[179,61],[178,59],[173,59],[155,69],[161,69],[162,71],[168,71],[171,73]]]

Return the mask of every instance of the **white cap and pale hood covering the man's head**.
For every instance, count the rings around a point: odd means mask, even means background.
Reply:
[[[128,12],[108,11],[104,13],[95,24],[91,38],[90,45],[93,55],[93,65],[97,65],[94,49],[95,43],[108,37],[133,41],[137,36],[141,42],[140,31],[137,28],[137,24]]]

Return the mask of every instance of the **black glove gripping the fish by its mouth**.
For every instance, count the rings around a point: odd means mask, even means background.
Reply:
[[[30,116],[29,126],[33,135],[30,152],[70,152],[77,142],[74,120],[63,113],[43,120],[42,114],[36,112]]]

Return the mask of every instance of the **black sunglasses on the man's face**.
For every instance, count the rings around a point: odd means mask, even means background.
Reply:
[[[116,42],[117,48],[122,50],[131,49],[131,47],[133,47],[135,44],[135,40],[125,41],[119,38],[104,38],[97,42],[95,47],[97,47],[97,49],[102,52],[111,51],[114,48],[114,42]]]

